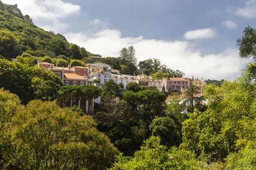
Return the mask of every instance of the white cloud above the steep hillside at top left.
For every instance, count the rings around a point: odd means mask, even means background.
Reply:
[[[61,19],[79,13],[80,6],[61,0],[2,0],[6,4],[18,4],[23,15],[29,15],[36,25],[47,31],[63,31],[68,24]],[[46,24],[46,25],[45,25]],[[53,26],[53,27],[52,27]]]

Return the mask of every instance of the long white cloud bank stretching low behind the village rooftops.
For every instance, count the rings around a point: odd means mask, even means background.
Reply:
[[[121,32],[115,29],[106,29],[95,34],[86,35],[83,32],[65,34],[68,41],[84,46],[86,50],[100,53],[102,57],[118,57],[123,47],[134,46],[138,60],[148,58],[160,59],[162,64],[184,71],[186,76],[198,78],[234,78],[241,73],[246,64],[239,59],[238,51],[228,48],[221,53],[202,55],[198,50],[189,48],[189,41],[163,41],[122,37]]]

